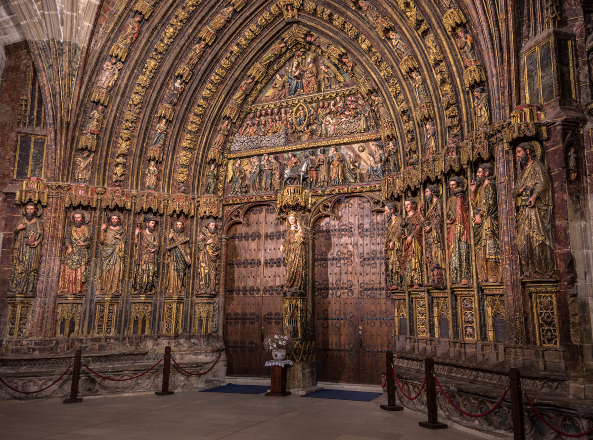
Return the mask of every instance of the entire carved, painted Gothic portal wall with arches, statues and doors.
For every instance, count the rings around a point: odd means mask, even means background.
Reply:
[[[171,376],[200,388],[269,376],[283,333],[294,390],[380,384],[394,352],[406,392],[433,357],[477,413],[517,367],[552,422],[587,426],[591,5],[12,6],[2,376],[44,384],[78,348],[135,373],[168,345],[218,359]]]

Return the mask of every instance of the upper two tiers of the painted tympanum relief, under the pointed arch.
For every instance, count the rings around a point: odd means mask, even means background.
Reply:
[[[377,127],[371,107],[345,72],[321,56],[301,52],[270,79],[248,109],[231,151],[355,135]]]

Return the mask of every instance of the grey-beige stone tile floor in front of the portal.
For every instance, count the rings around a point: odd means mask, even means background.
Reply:
[[[370,402],[186,391],[60,400],[3,401],[7,440],[473,440],[477,435],[418,426],[425,414]]]

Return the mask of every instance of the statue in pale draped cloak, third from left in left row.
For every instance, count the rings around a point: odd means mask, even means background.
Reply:
[[[99,242],[98,292],[100,295],[119,295],[122,291],[123,255],[125,252],[125,229],[122,214],[114,211],[109,223],[103,223]]]

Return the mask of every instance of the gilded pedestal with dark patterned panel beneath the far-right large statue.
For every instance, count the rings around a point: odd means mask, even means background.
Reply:
[[[525,283],[525,287],[533,302],[537,344],[544,347],[559,346],[558,312],[556,307],[556,293],[559,291],[558,284],[531,280]]]

